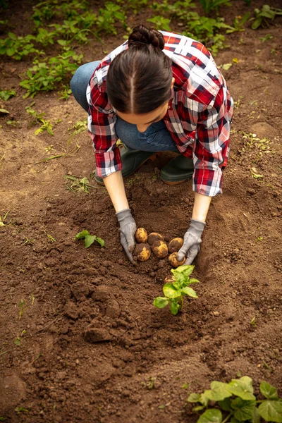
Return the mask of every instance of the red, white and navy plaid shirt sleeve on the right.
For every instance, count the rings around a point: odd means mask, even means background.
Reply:
[[[222,167],[229,153],[230,117],[223,87],[214,101],[199,111],[193,146],[193,191],[214,197],[222,194]]]

